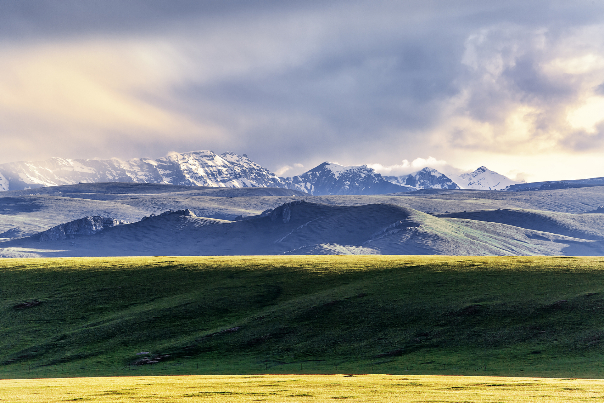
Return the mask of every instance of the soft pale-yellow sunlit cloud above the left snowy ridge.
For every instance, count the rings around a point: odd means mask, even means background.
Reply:
[[[0,51],[4,158],[23,138],[57,156],[94,149],[106,155],[175,134],[220,133],[158,105],[179,79],[169,48],[88,41]]]

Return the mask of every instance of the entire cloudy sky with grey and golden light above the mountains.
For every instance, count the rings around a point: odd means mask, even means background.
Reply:
[[[604,176],[604,0],[0,0],[0,163]]]

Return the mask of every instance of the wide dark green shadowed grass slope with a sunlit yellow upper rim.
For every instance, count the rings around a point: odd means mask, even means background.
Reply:
[[[5,259],[0,378],[602,378],[602,306],[601,257]]]

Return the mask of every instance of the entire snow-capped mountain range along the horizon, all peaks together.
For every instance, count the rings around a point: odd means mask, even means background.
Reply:
[[[0,190],[97,182],[139,182],[207,187],[278,187],[310,195],[376,195],[419,189],[502,190],[519,184],[480,167],[460,176],[425,167],[403,176],[382,176],[367,165],[341,166],[325,162],[301,175],[283,178],[250,160],[247,155],[199,150],[170,152],[151,160],[20,161],[0,164]]]

